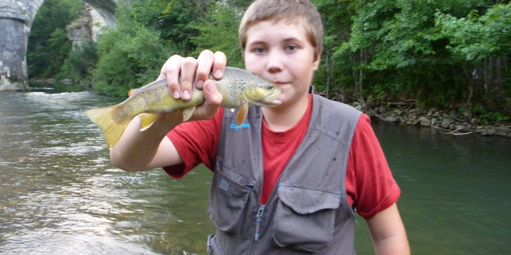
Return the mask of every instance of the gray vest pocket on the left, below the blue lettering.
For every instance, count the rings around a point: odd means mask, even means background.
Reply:
[[[236,233],[252,187],[253,182],[222,167],[221,160],[217,159],[208,213],[218,230]]]

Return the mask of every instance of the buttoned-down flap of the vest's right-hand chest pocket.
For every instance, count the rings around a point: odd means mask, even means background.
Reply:
[[[278,198],[299,214],[336,209],[341,201],[339,193],[282,185],[278,187]]]

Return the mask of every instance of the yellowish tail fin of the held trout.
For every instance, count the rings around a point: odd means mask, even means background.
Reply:
[[[105,143],[109,149],[117,144],[130,121],[127,120],[121,123],[115,121],[114,112],[118,108],[119,106],[110,106],[85,111],[85,115],[103,132]]]

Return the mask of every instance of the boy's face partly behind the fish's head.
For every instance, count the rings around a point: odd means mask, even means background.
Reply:
[[[261,21],[247,31],[244,61],[247,70],[282,88],[277,99],[282,107],[307,99],[319,58],[302,25],[285,21]]]

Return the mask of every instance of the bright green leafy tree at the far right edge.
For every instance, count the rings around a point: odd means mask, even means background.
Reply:
[[[511,4],[460,18],[438,11],[435,20],[449,38],[447,49],[465,62],[467,108],[475,98],[491,110],[511,112]]]

